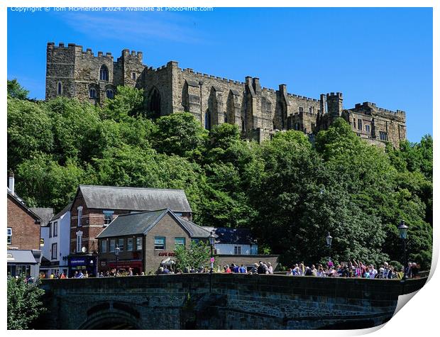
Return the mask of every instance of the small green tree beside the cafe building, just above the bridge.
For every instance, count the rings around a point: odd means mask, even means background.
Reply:
[[[180,245],[175,248],[175,267],[180,270],[185,270],[185,267],[207,267],[209,265],[209,258],[211,250],[209,243],[199,241],[198,243],[191,241],[189,248]]]

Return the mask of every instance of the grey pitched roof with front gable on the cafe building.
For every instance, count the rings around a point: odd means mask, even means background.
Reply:
[[[206,231],[204,228],[197,226],[191,221],[175,215],[170,209],[160,209],[158,211],[121,214],[114,219],[114,221],[111,221],[109,226],[104,228],[104,231],[101,231],[97,238],[112,238],[115,236],[146,234],[167,213],[169,213],[177,221],[177,223],[180,223],[180,225],[186,229],[190,237],[207,238],[209,236],[209,231]]]

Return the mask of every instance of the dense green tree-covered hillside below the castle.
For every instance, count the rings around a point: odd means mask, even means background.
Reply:
[[[9,84],[8,168],[29,206],[56,213],[79,184],[185,189],[195,223],[251,228],[284,265],[326,257],[328,231],[335,260],[402,261],[404,219],[409,260],[431,263],[431,136],[384,151],[339,119],[314,144],[287,131],[260,145],[189,113],[150,119],[138,89],[99,107],[30,101]]]

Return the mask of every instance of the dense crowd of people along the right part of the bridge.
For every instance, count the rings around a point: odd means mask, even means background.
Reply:
[[[396,267],[384,262],[379,269],[375,265],[366,265],[361,261],[350,261],[334,265],[331,261],[325,265],[319,264],[306,266],[304,263],[295,264],[287,270],[288,276],[315,276],[315,277],[363,277],[369,279],[399,279],[419,277],[419,265],[408,263],[407,267],[398,270]]]

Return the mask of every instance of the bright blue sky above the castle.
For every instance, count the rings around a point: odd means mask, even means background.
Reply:
[[[182,68],[263,87],[287,84],[319,98],[343,92],[344,108],[372,101],[407,111],[407,137],[432,134],[431,9],[214,9],[209,12],[8,11],[8,78],[45,96],[45,48],[77,43],[142,50],[145,65]]]

